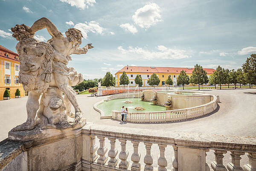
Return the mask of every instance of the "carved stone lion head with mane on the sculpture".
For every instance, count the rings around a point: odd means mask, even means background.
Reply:
[[[44,93],[49,87],[53,48],[48,43],[27,38],[16,46],[20,59],[19,82],[25,91]]]

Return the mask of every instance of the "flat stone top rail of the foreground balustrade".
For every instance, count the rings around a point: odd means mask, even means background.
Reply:
[[[122,128],[109,125],[87,123],[82,134],[113,137],[140,142],[163,143],[189,148],[221,149],[232,151],[256,152],[256,137],[224,136],[203,133],[185,133],[165,130]]]

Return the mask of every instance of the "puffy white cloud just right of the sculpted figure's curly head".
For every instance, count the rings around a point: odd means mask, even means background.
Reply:
[[[93,32],[101,35],[103,34],[103,31],[106,30],[105,28],[101,27],[96,21],[85,21],[84,23],[77,23],[74,28],[79,29],[82,32],[84,38],[88,37],[88,32]]]

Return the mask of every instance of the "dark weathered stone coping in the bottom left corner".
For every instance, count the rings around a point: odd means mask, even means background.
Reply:
[[[23,151],[23,143],[5,139],[0,142],[0,170]]]

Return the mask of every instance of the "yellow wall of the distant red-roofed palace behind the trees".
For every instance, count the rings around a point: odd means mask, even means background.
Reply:
[[[136,75],[152,75],[153,73],[145,73],[145,72],[125,72],[126,75],[134,75],[134,79],[136,77]],[[173,81],[173,78],[174,78],[174,75],[176,75],[175,77],[177,77],[177,75],[179,75],[179,73],[155,73],[158,75],[158,78],[160,79],[160,83],[158,86],[155,86],[155,87],[161,87],[162,86],[162,81],[166,81],[166,79],[169,77],[169,75],[171,75],[172,77],[172,81]],[[120,76],[122,75],[122,73],[116,73],[115,75],[117,75],[118,77],[118,81],[117,81],[117,84],[116,84],[116,87],[123,87],[123,85],[119,85],[119,79],[120,79]],[[163,75],[163,76],[162,76]],[[192,75],[192,74],[187,74],[189,75],[189,77]],[[207,74],[207,75],[211,75],[211,74]],[[149,76],[150,77],[150,76]],[[129,81],[134,81],[134,79],[129,79]],[[142,79],[143,80],[143,87],[151,87],[151,86],[145,86],[145,81],[148,80],[148,79]],[[191,86],[193,84],[189,84],[187,86]],[[195,84],[195,85],[198,85],[198,84]],[[209,85],[209,84],[208,84]],[[136,84],[137,86],[137,84]],[[136,86],[130,86],[130,87],[136,87]]]

